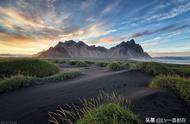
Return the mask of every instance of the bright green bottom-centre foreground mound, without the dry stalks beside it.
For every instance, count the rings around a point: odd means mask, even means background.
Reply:
[[[138,124],[137,117],[119,104],[107,103],[85,111],[77,124]]]

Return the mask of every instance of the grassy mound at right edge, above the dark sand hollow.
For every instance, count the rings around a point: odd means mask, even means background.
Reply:
[[[157,76],[150,83],[152,88],[169,88],[190,104],[190,79],[179,76]]]

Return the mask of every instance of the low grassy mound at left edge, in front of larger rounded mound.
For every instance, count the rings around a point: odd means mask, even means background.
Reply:
[[[37,78],[17,75],[0,81],[0,93],[32,85]]]

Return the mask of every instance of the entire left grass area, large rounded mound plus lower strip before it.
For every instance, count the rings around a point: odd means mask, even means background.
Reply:
[[[45,60],[1,58],[0,93],[34,84],[72,79],[80,75],[80,71],[60,72],[58,66]]]

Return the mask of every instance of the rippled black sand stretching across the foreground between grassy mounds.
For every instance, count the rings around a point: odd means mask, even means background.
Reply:
[[[22,88],[0,95],[0,120],[23,124],[47,124],[48,112],[79,98],[96,96],[99,91],[117,90],[132,101],[133,110],[146,117],[185,117],[190,107],[173,92],[148,88],[152,76],[140,71],[111,72],[92,66],[83,69],[83,76],[63,82]]]

